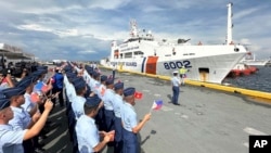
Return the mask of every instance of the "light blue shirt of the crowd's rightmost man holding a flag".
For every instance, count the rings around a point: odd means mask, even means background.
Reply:
[[[132,128],[138,125],[137,113],[133,106],[130,103],[125,102],[121,107],[120,114],[124,128],[128,131],[132,131]]]

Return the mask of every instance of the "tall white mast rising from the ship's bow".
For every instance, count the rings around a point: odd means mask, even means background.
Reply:
[[[233,41],[232,41],[232,28],[233,28],[233,24],[232,24],[232,5],[233,3],[230,2],[228,3],[228,26],[227,26],[227,44],[233,44]]]

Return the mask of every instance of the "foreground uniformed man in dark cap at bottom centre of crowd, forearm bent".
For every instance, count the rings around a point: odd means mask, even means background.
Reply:
[[[94,117],[100,107],[101,99],[96,94],[87,98],[83,105],[85,114],[78,118],[75,127],[79,153],[100,152],[107,142],[114,139],[114,131],[99,131],[96,128]],[[103,137],[102,141],[100,141],[100,136]]]

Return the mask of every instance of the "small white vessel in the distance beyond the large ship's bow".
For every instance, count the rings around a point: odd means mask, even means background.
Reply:
[[[249,65],[249,66],[267,66],[269,60],[256,60],[256,55],[248,53],[240,63]]]

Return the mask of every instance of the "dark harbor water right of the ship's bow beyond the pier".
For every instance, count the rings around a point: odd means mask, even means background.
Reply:
[[[258,67],[258,72],[249,76],[225,78],[223,84],[231,86],[271,92],[271,67]]]

